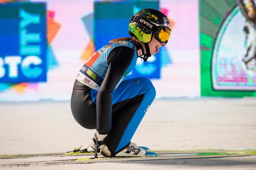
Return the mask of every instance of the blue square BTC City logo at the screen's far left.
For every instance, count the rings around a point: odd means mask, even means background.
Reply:
[[[0,4],[0,83],[47,81],[45,3]]]

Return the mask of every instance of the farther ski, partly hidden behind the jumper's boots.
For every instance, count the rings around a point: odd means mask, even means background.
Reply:
[[[256,149],[191,149],[191,150],[159,150],[149,149],[143,147],[148,152],[155,152],[158,154],[166,153],[227,153],[227,152],[256,152]],[[32,157],[46,157],[46,156],[92,156],[95,154],[94,151],[80,152],[57,152],[57,153],[31,153],[31,154],[12,154],[12,155],[0,155],[0,159],[13,159],[13,158],[32,158]]]

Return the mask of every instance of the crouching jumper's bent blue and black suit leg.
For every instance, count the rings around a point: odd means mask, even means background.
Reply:
[[[129,146],[131,138],[155,98],[154,86],[146,78],[123,81],[117,90],[120,92],[115,91],[114,97],[118,94],[116,97],[120,102],[113,105],[112,129],[103,141],[113,155]],[[135,95],[131,97],[133,94]],[[126,99],[122,99],[124,96]]]

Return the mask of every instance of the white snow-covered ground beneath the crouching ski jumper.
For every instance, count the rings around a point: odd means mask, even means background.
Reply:
[[[0,154],[87,147],[94,130],[73,119],[70,102],[0,103]],[[155,100],[132,141],[151,149],[256,149],[256,98]],[[34,160],[46,160],[34,158]],[[19,159],[20,162],[25,159]],[[0,164],[15,159],[0,159]],[[1,167],[6,170],[256,169],[256,156]]]

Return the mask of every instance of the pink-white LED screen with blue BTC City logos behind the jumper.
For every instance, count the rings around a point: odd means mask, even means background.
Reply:
[[[126,78],[149,78],[157,98],[200,96],[198,0],[1,0],[0,101],[69,100],[82,65],[130,37],[128,22],[143,8],[168,16],[171,38]]]

